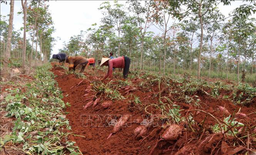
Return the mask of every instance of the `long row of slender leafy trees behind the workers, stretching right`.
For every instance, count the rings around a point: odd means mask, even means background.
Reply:
[[[248,18],[256,11],[253,0],[236,8],[228,21],[219,12],[218,5],[230,5],[233,0],[211,1],[128,1],[128,7],[114,1],[100,5],[101,23],[74,35],[64,43],[61,52],[85,55],[99,60],[109,52],[127,55],[134,68],[166,66],[184,70],[212,69],[236,72],[247,69],[253,72],[256,51],[256,22]],[[184,9],[184,7],[186,9]],[[162,33],[150,32],[156,27]],[[224,68],[226,68],[224,70]],[[256,70],[256,68],[255,68]],[[227,74],[228,76],[228,74]]]

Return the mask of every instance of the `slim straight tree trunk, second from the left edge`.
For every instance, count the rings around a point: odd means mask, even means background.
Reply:
[[[26,46],[27,46],[27,40],[26,40],[26,26],[27,26],[27,0],[24,1],[21,0],[22,8],[23,8],[23,14],[24,14],[24,29],[23,29],[23,52],[22,52],[22,73],[24,74],[25,71],[25,61],[26,61]]]

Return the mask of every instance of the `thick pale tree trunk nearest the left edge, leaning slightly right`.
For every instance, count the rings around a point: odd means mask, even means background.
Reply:
[[[11,40],[12,40],[12,23],[13,23],[13,10],[14,10],[14,0],[11,0],[10,5],[10,16],[9,16],[9,26],[8,26],[8,34],[7,34],[7,45],[6,45],[6,52],[5,57],[3,59],[3,70],[2,76],[7,78],[8,74],[8,63],[10,59],[10,50],[11,50]]]

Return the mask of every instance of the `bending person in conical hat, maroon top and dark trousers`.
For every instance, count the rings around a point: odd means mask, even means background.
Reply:
[[[124,68],[124,78],[128,77],[128,72],[129,72],[129,68],[130,68],[130,63],[131,60],[128,57],[118,57],[118,58],[102,58],[101,59],[101,63],[100,66],[108,66],[109,69],[107,71],[107,74],[105,75],[104,78],[102,78],[102,80],[105,80],[107,77],[112,78],[112,72],[113,72],[113,68]]]

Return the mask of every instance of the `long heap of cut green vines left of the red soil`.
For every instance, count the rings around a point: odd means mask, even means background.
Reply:
[[[12,141],[23,143],[21,150],[28,154],[80,154],[74,142],[59,143],[70,134],[63,133],[60,128],[71,128],[68,120],[56,118],[63,113],[66,104],[61,100],[63,96],[54,80],[55,75],[49,71],[50,67],[50,64],[45,64],[37,68],[36,80],[25,84],[27,92],[22,93],[19,89],[9,91],[5,98],[8,103],[6,116],[17,120],[13,123],[13,132],[1,139],[1,148]],[[32,132],[35,135],[29,134]]]

